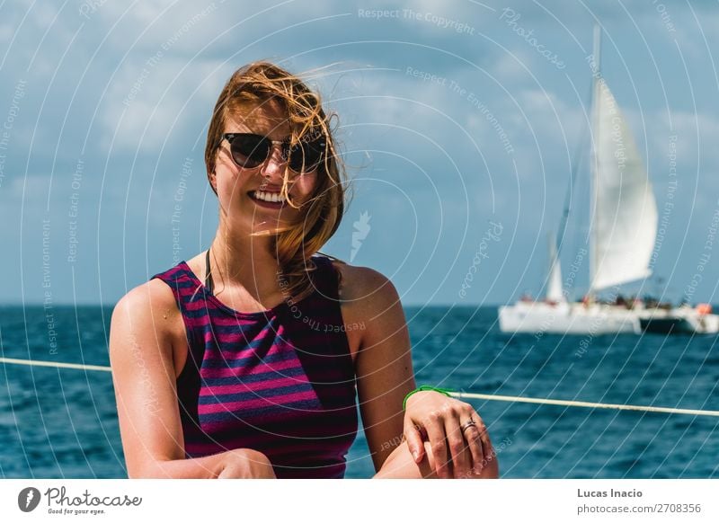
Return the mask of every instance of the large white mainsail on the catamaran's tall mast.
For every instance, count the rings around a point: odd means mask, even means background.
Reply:
[[[642,157],[617,101],[597,80],[591,289],[648,277],[657,207]]]

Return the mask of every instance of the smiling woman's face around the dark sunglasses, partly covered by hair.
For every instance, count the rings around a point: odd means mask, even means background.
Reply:
[[[247,102],[241,110],[228,115],[225,133],[252,133],[279,141],[289,137],[288,115],[280,102]],[[286,164],[280,144],[273,144],[263,164],[240,167],[232,159],[229,142],[222,140],[210,182],[217,191],[221,214],[231,222],[233,229],[257,233],[297,222],[301,212],[287,201],[263,200],[279,198]],[[300,205],[315,189],[317,170],[301,174],[290,170],[289,176],[289,195],[295,205]]]

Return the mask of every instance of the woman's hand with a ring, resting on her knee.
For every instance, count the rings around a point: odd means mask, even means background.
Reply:
[[[425,437],[440,478],[470,477],[497,467],[487,428],[469,403],[436,391],[412,394],[404,412],[404,439],[417,464],[425,457]]]

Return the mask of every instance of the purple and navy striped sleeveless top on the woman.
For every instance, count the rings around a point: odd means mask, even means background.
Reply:
[[[186,262],[153,277],[172,288],[186,327],[186,457],[253,448],[278,478],[344,476],[358,428],[354,366],[337,271],[325,256],[312,261],[311,295],[257,313],[222,304]]]

